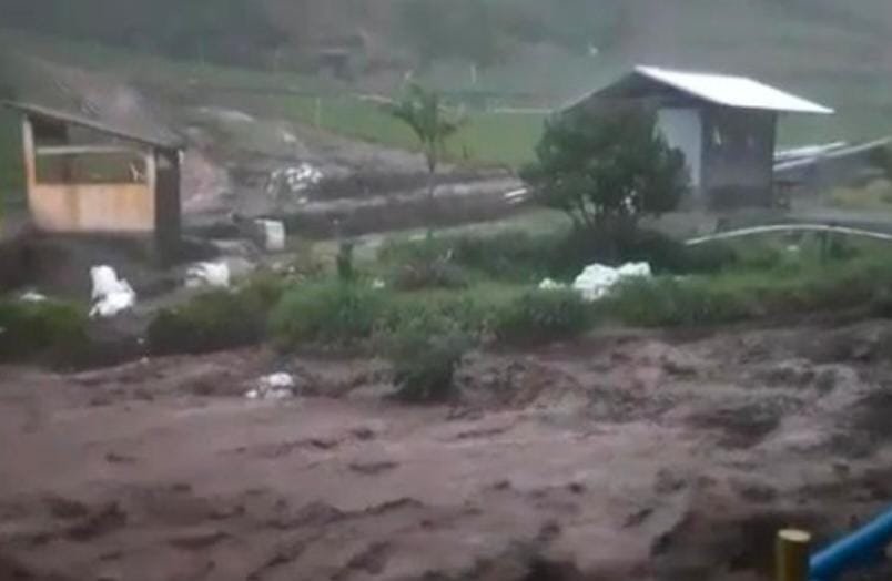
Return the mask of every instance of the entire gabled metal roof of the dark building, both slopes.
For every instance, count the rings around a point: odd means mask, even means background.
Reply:
[[[624,91],[632,86],[636,88],[633,91],[640,91],[641,80],[659,83],[697,99],[723,106],[825,115],[834,112],[830,108],[747,77],[679,71],[645,65],[636,67],[630,74],[602,89],[588,93],[562,109],[574,109],[589,99],[598,96],[621,98]]]

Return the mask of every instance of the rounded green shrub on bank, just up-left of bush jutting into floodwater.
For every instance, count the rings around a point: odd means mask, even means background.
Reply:
[[[349,345],[372,336],[387,295],[359,284],[323,282],[288,290],[273,309],[272,332],[284,347]]]

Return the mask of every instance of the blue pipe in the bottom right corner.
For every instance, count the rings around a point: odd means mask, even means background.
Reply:
[[[892,542],[892,509],[811,558],[811,581],[832,581],[844,571],[865,567],[883,557]]]

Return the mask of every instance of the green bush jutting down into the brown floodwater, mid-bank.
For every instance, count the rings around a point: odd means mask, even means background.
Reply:
[[[454,377],[473,339],[445,317],[406,322],[384,339],[394,366],[397,396],[406,401],[442,401],[454,393]]]

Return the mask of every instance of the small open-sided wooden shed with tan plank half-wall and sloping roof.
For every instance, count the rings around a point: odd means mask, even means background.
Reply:
[[[6,105],[22,114],[28,208],[37,232],[144,238],[162,261],[175,255],[180,141],[36,104]]]

